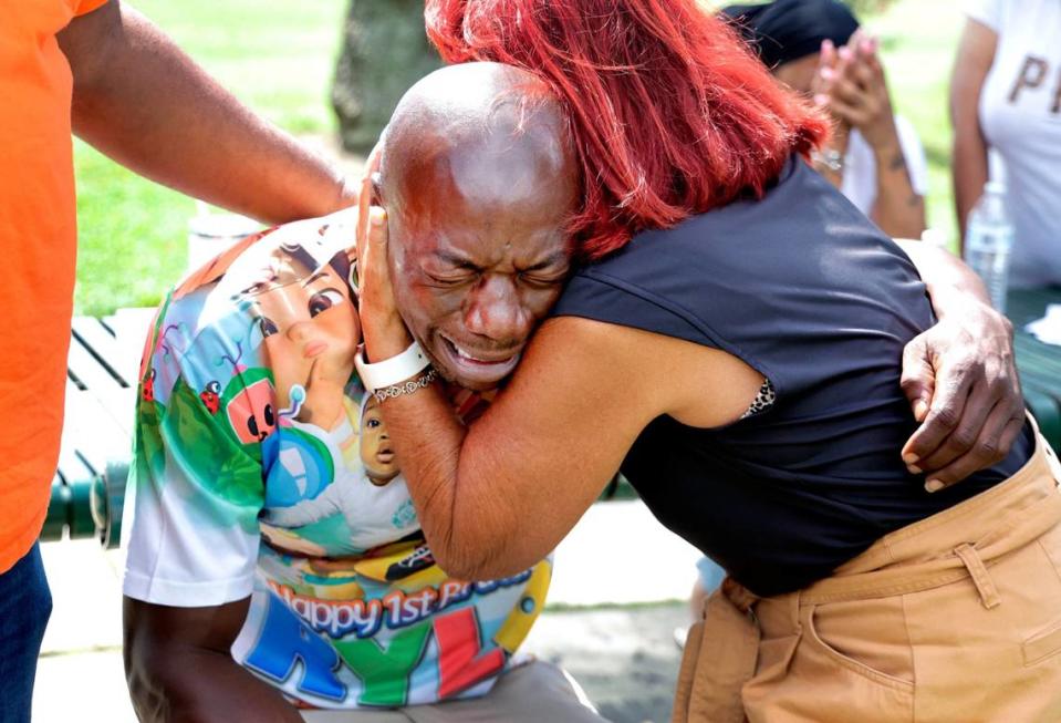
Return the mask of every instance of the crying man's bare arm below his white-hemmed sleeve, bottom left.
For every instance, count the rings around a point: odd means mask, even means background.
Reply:
[[[174,608],[125,598],[125,676],[146,723],[302,723],[272,686],[232,660],[250,598]]]

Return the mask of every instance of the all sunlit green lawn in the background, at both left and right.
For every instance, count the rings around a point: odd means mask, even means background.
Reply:
[[[346,0],[141,0],[152,18],[243,102],[295,134],[334,132],[329,89]],[[929,225],[954,240],[947,83],[959,0],[901,0],[866,25],[883,38],[896,110],[929,159]],[[77,143],[77,313],[150,306],[185,266],[190,199]]]

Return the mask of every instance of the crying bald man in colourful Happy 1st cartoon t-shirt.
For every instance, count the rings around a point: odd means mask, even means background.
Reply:
[[[125,655],[142,721],[604,720],[563,671],[518,653],[551,560],[492,582],[450,579],[403,476],[372,484],[356,443],[365,395],[427,361],[458,415],[489,404],[566,278],[578,189],[563,117],[539,81],[497,64],[446,68],[398,105],[374,187],[423,352],[399,370],[361,360],[353,371],[343,357],[360,340],[353,249],[330,244],[349,219],[245,241],[170,293],[142,373],[131,477]],[[278,265],[305,278],[258,278]],[[351,371],[308,394],[274,373],[284,360],[269,349],[332,354],[330,369]],[[331,381],[341,404],[320,400]],[[212,406],[202,389],[221,390]],[[259,435],[239,434],[248,422]],[[344,494],[326,495],[335,484]],[[277,521],[332,497],[345,507],[331,516]]]

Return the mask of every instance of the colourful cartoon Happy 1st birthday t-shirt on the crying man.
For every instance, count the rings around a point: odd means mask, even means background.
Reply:
[[[125,593],[251,596],[233,658],[300,705],[482,694],[551,562],[469,583],[435,564],[354,371],[353,211],[252,236],[174,289],[137,400]],[[453,392],[470,417],[488,403]]]

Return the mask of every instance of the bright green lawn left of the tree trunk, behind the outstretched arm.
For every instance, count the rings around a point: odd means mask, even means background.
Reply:
[[[346,0],[133,0],[252,109],[295,134],[332,133]],[[191,199],[79,142],[76,313],[154,306],[186,262]]]

